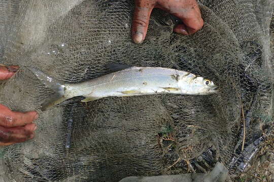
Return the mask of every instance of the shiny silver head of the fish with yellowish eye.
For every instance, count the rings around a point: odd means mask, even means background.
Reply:
[[[218,92],[218,86],[212,80],[197,76],[191,81],[190,92],[195,95],[209,95]]]

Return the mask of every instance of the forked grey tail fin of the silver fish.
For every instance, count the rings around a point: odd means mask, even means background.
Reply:
[[[43,71],[40,71],[36,68],[28,67],[28,70],[30,70],[33,74],[36,75],[36,77],[43,81],[43,83],[50,89],[52,89],[55,94],[50,97],[45,103],[42,104],[42,111],[45,111],[57,104],[60,104],[61,102],[70,99],[72,97],[68,97],[65,94],[65,82],[58,80],[54,77],[51,77],[44,73]]]

